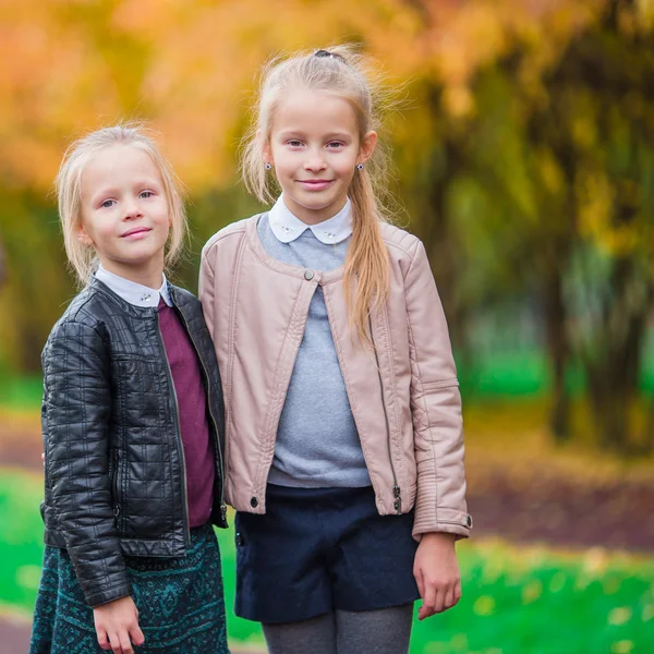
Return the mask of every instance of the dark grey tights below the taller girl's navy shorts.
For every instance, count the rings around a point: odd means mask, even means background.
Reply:
[[[407,654],[413,603],[263,625],[268,654]]]

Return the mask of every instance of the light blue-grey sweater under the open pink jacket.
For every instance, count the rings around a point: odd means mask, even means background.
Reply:
[[[267,214],[261,217],[257,231],[270,256],[315,270],[342,266],[350,244],[348,238],[327,245],[310,229],[294,241],[282,243],[272,233]],[[308,307],[281,411],[268,482],[304,488],[371,484],[319,286]]]

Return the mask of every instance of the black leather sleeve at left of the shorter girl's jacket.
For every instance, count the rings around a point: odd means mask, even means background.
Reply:
[[[44,350],[46,474],[66,549],[89,606],[130,594],[109,480],[111,388],[93,328],[62,323]]]

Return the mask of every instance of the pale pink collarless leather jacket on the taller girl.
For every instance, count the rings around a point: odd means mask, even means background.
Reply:
[[[239,511],[266,510],[277,425],[320,284],[377,510],[405,513],[415,506],[416,538],[426,532],[468,536],[461,399],[423,244],[382,225],[390,294],[371,318],[373,351],[351,336],[343,268],[322,272],[276,261],[258,238],[257,219],[215,234],[199,274],[225,393],[227,501]],[[319,395],[307,388],[306,401]]]

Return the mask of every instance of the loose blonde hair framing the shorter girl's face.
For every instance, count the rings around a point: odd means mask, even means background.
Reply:
[[[187,222],[180,196],[180,183],[170,162],[159,152],[149,131],[137,123],[96,130],[69,146],[56,179],[65,253],[81,286],[88,282],[96,265],[96,254],[93,247],[83,244],[77,238],[77,230],[82,225],[82,173],[94,157],[114,145],[137,147],[146,153],[157,167],[164,183],[164,193],[168,202],[171,221],[165,265],[172,265],[183,251]]]

